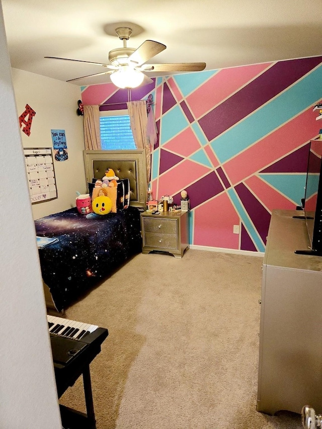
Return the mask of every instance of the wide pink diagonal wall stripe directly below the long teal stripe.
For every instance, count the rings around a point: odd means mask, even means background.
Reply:
[[[315,112],[310,107],[223,166],[234,185],[262,170],[316,135]]]

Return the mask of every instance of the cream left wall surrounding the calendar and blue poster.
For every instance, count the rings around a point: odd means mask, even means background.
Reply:
[[[68,159],[54,161],[58,199],[33,204],[33,217],[38,219],[75,207],[76,191],[86,192],[83,116],[76,114],[81,90],[71,83],[16,68],[12,69],[12,79],[18,117],[26,104],[36,112],[30,136],[21,131],[23,146],[52,148],[50,130],[61,129],[66,133]],[[14,177],[20,173],[11,171]]]

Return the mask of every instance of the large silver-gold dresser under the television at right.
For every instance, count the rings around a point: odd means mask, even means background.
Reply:
[[[257,411],[322,412],[322,257],[302,212],[274,210],[263,262]],[[312,222],[312,221],[309,221]]]

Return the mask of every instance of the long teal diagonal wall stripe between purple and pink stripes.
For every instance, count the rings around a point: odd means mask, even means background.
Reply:
[[[280,127],[322,98],[322,66],[211,142],[220,162]],[[269,119],[268,119],[269,118]]]

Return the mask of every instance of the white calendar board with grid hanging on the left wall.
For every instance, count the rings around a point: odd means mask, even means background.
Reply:
[[[51,148],[26,148],[24,154],[31,204],[57,198]]]

